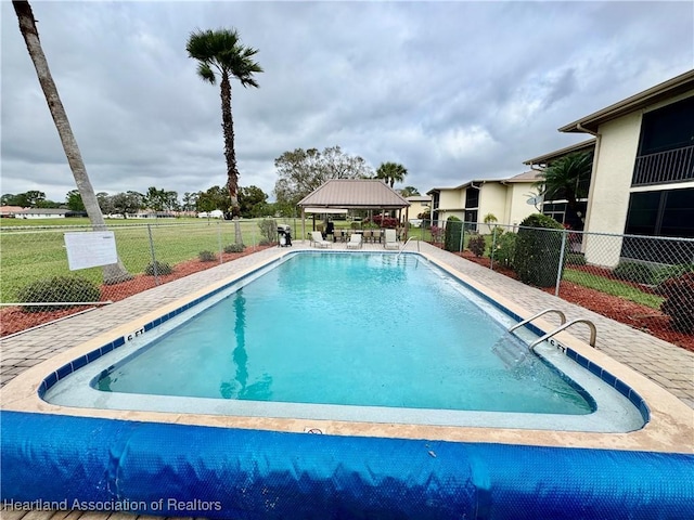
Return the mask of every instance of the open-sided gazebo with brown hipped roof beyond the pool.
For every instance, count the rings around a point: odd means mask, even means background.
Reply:
[[[372,211],[397,210],[398,221],[408,219],[407,202],[398,192],[377,179],[333,179],[299,200],[303,236],[306,237],[306,213],[346,213],[350,209]]]

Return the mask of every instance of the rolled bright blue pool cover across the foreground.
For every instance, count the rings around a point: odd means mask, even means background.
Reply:
[[[687,519],[694,456],[1,412],[4,508],[224,519]]]

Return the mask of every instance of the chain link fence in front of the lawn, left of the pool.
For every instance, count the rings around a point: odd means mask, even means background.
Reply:
[[[0,335],[107,304],[197,271],[219,265],[267,245],[277,245],[278,223],[242,220],[243,248],[234,222],[119,223],[118,264],[70,271],[66,233],[91,226],[3,226],[0,229]]]

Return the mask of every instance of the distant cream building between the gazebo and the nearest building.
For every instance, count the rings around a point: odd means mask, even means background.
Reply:
[[[432,196],[432,219],[446,221],[453,216],[476,230],[493,214],[498,224],[517,225],[538,211],[532,187],[537,173],[526,171],[510,179],[479,179],[455,187],[434,187],[426,192]]]

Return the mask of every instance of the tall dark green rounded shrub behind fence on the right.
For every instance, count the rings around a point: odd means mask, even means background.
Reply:
[[[551,287],[563,271],[560,265],[564,227],[547,214],[534,213],[520,222],[513,264],[524,284]]]

